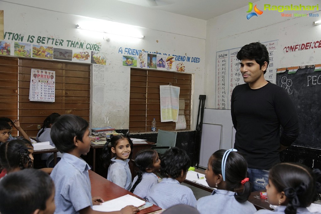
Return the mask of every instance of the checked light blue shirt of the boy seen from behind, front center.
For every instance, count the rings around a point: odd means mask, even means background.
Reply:
[[[173,178],[163,178],[160,183],[153,185],[146,200],[162,209],[168,209],[178,204],[195,207],[196,204],[193,191],[187,186],[179,184]]]

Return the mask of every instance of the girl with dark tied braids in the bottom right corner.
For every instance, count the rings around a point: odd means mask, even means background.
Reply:
[[[278,205],[274,211],[259,210],[259,214],[306,214],[307,207],[321,193],[317,180],[320,169],[313,171],[298,163],[280,163],[270,169],[269,184],[266,186],[267,200]]]

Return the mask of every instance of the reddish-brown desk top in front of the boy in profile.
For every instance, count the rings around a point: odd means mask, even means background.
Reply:
[[[124,188],[121,188],[120,186],[114,184],[113,182],[108,181],[106,178],[98,175],[97,173],[91,170],[89,170],[88,172],[91,183],[91,195],[93,197],[100,196],[104,201],[109,201],[127,194],[138,197],[134,193],[131,193]],[[152,207],[139,211],[138,214],[150,213],[156,210],[161,210],[161,208],[153,205]]]

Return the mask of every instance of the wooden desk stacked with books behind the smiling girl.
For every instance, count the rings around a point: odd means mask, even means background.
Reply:
[[[139,143],[139,144],[135,144],[133,146],[133,151],[132,151],[132,158],[135,158],[136,154],[138,151],[140,150],[144,150],[144,149],[150,149],[152,147],[152,145],[154,145],[155,143],[153,142],[148,142],[147,143]],[[108,145],[110,147],[110,145]],[[90,148],[92,149],[92,171],[96,172],[96,149],[102,149],[104,147],[104,144],[100,144],[100,145],[95,145],[92,144],[90,145]],[[130,171],[134,172],[134,168],[135,166],[131,163],[129,163],[129,168]]]

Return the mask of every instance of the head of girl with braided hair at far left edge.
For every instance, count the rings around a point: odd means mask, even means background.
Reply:
[[[33,148],[29,144],[30,141],[26,139],[17,139],[0,146],[0,165],[7,174],[32,167]]]

